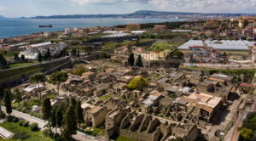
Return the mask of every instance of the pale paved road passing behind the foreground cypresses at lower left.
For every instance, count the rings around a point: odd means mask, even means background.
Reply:
[[[2,106],[2,110],[3,110],[3,112],[5,112],[4,106]],[[44,120],[39,119],[34,116],[27,115],[18,110],[13,110],[11,116],[15,116],[20,119],[24,119],[26,121],[29,121],[30,123],[37,122],[38,127],[40,127],[42,130],[45,128],[44,126],[48,123],[47,121],[44,121]],[[52,129],[52,130],[55,132],[55,129]],[[60,133],[59,129],[58,129],[58,133]],[[86,135],[86,134],[80,133],[80,132],[78,132],[76,135],[73,135],[73,138],[75,138],[76,140],[80,140],[80,141],[99,141],[99,140],[103,141],[104,140],[103,138],[94,138],[94,137],[91,137],[89,135]]]

